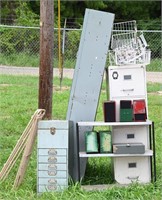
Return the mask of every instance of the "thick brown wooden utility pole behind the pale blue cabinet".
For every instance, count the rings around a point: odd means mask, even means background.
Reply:
[[[38,107],[52,118],[54,0],[40,0],[40,68]]]

